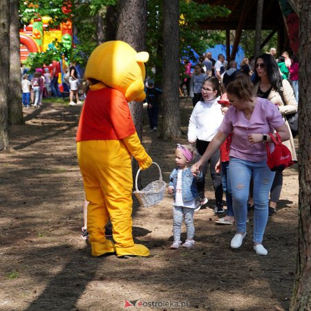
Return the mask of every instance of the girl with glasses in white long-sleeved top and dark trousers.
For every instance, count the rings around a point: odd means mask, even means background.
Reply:
[[[225,93],[224,91],[223,84],[216,77],[209,77],[202,84],[201,94],[203,100],[199,101],[194,107],[188,128],[189,144],[196,143],[196,149],[198,149],[199,153],[196,156],[196,161],[203,155],[209,142],[211,142],[218,132],[221,122],[223,122],[223,114],[217,101]],[[221,174],[215,171],[215,166],[219,158],[220,153],[218,150],[209,162],[202,167],[203,180],[202,182],[197,182],[199,198],[196,200],[196,210],[207,203],[207,198],[205,198],[205,175],[210,164],[211,180],[213,182],[216,200],[214,212],[215,214],[222,214],[224,212]]]

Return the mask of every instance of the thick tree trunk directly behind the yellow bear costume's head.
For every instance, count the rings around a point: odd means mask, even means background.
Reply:
[[[120,0],[116,39],[128,43],[138,52],[144,50],[147,32],[145,0]],[[124,55],[126,57],[126,55]],[[129,107],[136,131],[142,139],[142,102],[130,102]]]

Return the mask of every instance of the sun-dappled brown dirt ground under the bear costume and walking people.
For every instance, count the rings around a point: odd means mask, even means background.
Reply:
[[[190,104],[180,105],[186,133]],[[79,236],[79,107],[46,103],[25,115],[26,126],[11,129],[12,153],[0,154],[1,311],[288,310],[297,243],[296,167],[285,171],[279,210],[267,225],[268,256],[252,251],[252,220],[243,247],[230,249],[234,227],[215,225],[209,208],[196,212],[194,249],[172,251],[172,199],[165,194],[155,207],[134,206],[133,235],[149,247],[150,258],[91,258]],[[167,181],[177,141],[162,142],[145,121],[144,145]],[[148,175],[142,175],[146,184],[158,179],[156,169]],[[210,180],[206,195],[213,197]]]

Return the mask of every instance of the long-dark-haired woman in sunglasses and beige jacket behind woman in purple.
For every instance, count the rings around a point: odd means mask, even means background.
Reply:
[[[298,106],[294,91],[287,79],[282,79],[281,73],[274,58],[270,54],[263,54],[256,58],[254,75],[255,93],[258,97],[266,98],[276,104],[288,130],[290,126],[285,115],[296,113]],[[290,139],[284,142],[292,153],[292,160],[296,161],[294,139],[290,131]],[[283,173],[276,172],[270,192],[269,215],[276,214],[276,205],[279,201],[283,184]],[[252,206],[252,202],[250,202]]]

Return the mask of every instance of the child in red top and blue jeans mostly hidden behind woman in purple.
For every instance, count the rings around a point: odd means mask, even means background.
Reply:
[[[227,93],[218,100],[218,104],[221,104],[221,112],[223,115],[227,113],[230,102],[227,97]],[[232,141],[232,133],[227,136],[227,139],[220,146],[220,160],[216,164],[215,171],[219,173],[221,167],[221,176],[223,180],[223,191],[225,191],[226,202],[227,202],[227,215],[223,218],[219,218],[215,221],[220,225],[234,225],[234,211],[232,207],[232,191],[229,176],[229,149]]]

